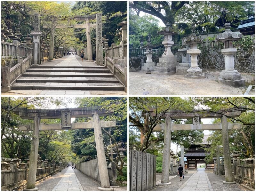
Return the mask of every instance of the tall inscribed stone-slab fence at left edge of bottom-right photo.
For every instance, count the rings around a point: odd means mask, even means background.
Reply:
[[[156,187],[156,156],[129,150],[129,191]]]

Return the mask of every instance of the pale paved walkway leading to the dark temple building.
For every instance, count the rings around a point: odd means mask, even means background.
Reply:
[[[212,185],[204,172],[204,168],[198,168],[187,182],[179,188],[179,191],[212,191]]]

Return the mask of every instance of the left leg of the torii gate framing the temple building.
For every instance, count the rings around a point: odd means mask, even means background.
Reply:
[[[167,116],[165,118],[164,127],[164,151],[163,151],[163,171],[162,180],[159,185],[170,185],[169,182],[169,170],[170,170],[170,149],[171,149],[171,123],[172,119]]]

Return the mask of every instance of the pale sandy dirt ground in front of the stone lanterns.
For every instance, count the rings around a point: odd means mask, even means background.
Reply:
[[[190,79],[184,75],[156,75],[129,72],[130,95],[243,95],[250,84],[254,85],[254,73],[242,73],[245,86],[235,88],[219,83],[219,72],[204,72],[205,79]],[[254,89],[249,95],[254,95]]]

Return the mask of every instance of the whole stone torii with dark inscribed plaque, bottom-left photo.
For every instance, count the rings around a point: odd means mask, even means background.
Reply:
[[[43,130],[68,130],[68,129],[94,129],[98,165],[100,172],[99,190],[114,190],[110,188],[108,178],[108,168],[105,156],[104,143],[101,128],[115,127],[115,121],[100,121],[100,116],[108,116],[113,114],[111,110],[102,109],[102,106],[87,108],[65,108],[65,109],[28,109],[16,108],[14,113],[22,119],[34,119],[34,124],[21,125],[20,130],[33,131],[31,141],[31,152],[29,159],[27,190],[38,190],[36,185],[36,165],[39,146],[39,131]],[[71,123],[72,117],[92,117],[92,121],[84,123]],[[41,119],[57,119],[61,118],[59,124],[40,123]]]

